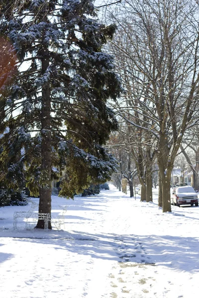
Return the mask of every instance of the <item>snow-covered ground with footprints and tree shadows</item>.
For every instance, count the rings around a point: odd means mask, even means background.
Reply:
[[[198,298],[199,207],[163,214],[156,194],[52,196],[61,230],[13,230],[30,206],[0,208],[0,298]]]

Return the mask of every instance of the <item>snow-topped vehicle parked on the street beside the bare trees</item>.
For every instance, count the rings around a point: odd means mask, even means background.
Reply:
[[[191,205],[198,207],[198,194],[192,186],[179,186],[173,189],[171,204],[180,207],[180,205]]]

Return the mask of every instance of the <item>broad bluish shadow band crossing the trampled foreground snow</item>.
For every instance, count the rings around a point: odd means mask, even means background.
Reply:
[[[18,241],[54,244],[56,250],[64,249],[68,252],[90,255],[92,258],[103,260],[155,263],[173,270],[193,273],[199,270],[198,238],[73,232],[62,233],[62,238],[58,239],[20,238]]]

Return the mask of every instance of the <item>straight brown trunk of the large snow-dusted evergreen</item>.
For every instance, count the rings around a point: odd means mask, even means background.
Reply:
[[[42,74],[45,74],[49,59],[45,58],[48,48],[44,45],[41,51]],[[51,216],[51,126],[50,126],[50,84],[47,82],[42,86],[41,107],[41,179],[39,189],[39,213],[49,213]],[[38,220],[35,228],[44,228],[44,220]],[[51,229],[51,222],[48,223]]]

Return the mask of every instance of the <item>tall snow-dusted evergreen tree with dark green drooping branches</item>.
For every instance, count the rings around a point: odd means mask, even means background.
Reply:
[[[51,213],[53,166],[67,177],[60,196],[72,198],[115,171],[103,148],[117,128],[106,101],[121,90],[102,52],[114,31],[99,23],[93,0],[1,1],[0,35],[17,73],[0,90],[0,180],[13,189],[27,181],[40,213]]]

